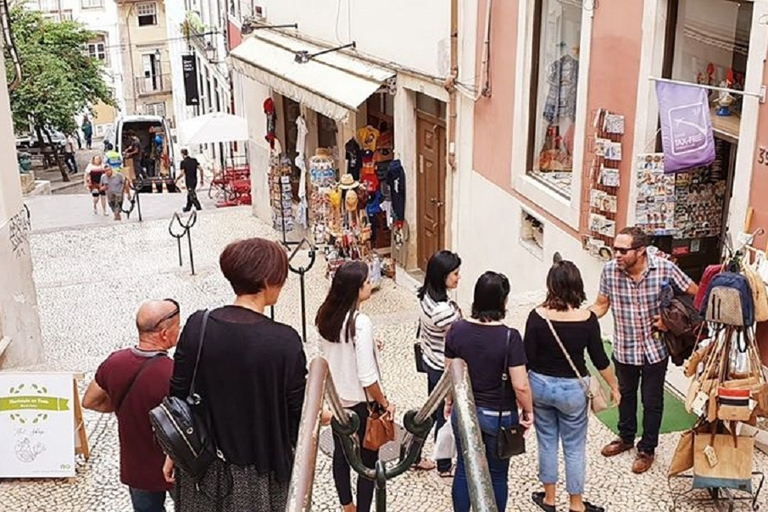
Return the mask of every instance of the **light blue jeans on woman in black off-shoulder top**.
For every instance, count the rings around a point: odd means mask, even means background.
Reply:
[[[584,494],[589,407],[577,378],[528,373],[533,395],[533,420],[539,444],[539,480],[557,483],[557,451],[563,441],[565,488]]]

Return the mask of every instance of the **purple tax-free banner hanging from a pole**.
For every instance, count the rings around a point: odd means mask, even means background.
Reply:
[[[715,141],[707,91],[693,85],[656,82],[664,171],[710,165]]]

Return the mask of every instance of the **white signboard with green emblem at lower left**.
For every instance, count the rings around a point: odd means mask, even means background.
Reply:
[[[72,374],[0,373],[0,478],[75,476]]]

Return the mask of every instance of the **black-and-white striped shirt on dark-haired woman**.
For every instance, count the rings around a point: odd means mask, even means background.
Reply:
[[[453,322],[461,318],[459,306],[453,302],[437,302],[428,293],[421,299],[419,339],[424,364],[433,370],[445,369],[445,333]]]

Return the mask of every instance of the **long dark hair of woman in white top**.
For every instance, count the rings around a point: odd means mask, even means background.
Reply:
[[[317,310],[315,325],[323,339],[338,343],[341,341],[341,327],[349,314],[344,341],[355,337],[357,299],[360,288],[368,280],[368,265],[362,261],[349,261],[336,271],[331,289],[320,309]]]

